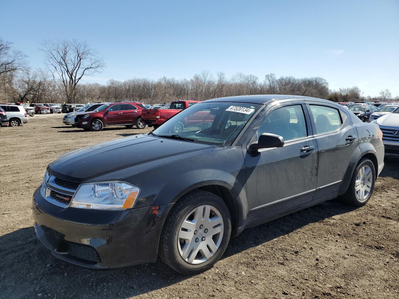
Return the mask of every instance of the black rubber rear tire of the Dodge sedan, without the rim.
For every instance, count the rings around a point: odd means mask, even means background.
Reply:
[[[372,182],[371,182],[371,188],[370,188],[370,191],[369,191],[367,197],[365,197],[364,200],[360,200],[357,195],[357,192],[356,192],[356,181],[358,179],[358,174],[359,174],[360,169],[365,166],[368,166],[371,169]],[[344,195],[341,195],[339,197],[339,199],[342,203],[345,203],[347,205],[352,205],[355,207],[364,206],[370,200],[371,195],[373,195],[374,184],[375,184],[374,164],[370,159],[367,159],[367,158],[362,159],[359,161],[358,165],[355,168],[355,171],[352,175],[352,179],[350,181],[348,190],[346,191],[346,193]]]

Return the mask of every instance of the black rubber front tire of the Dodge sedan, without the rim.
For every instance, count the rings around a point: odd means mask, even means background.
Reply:
[[[180,226],[190,211],[202,205],[211,205],[220,212],[223,219],[223,236],[219,247],[208,260],[200,264],[189,264],[183,260],[179,253],[178,233]],[[165,264],[175,271],[185,275],[194,275],[211,268],[221,258],[229,244],[230,235],[231,217],[229,209],[223,200],[207,191],[191,193],[174,205],[165,221],[160,240],[160,257]]]

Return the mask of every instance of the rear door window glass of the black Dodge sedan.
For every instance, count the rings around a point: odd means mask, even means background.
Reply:
[[[332,132],[341,126],[342,120],[338,109],[320,105],[309,106],[312,110],[317,134]]]

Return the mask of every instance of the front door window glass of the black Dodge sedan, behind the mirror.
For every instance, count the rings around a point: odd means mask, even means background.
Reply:
[[[282,136],[284,141],[308,136],[302,106],[293,105],[273,110],[259,126],[257,138],[263,133]]]

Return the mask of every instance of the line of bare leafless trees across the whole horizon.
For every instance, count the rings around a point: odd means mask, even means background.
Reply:
[[[10,42],[0,39],[0,101],[1,102],[67,102],[87,103],[137,100],[146,104],[173,100],[207,100],[224,96],[249,94],[293,94],[326,98],[335,102],[365,100],[358,87],[330,90],[320,77],[276,77],[269,73],[259,79],[254,75],[236,73],[227,78],[202,71],[191,79],[162,77],[158,80],[133,78],[109,80],[106,84],[82,83],[84,77],[101,72],[105,63],[85,42],[45,41],[43,69],[31,69],[27,57],[12,49]],[[379,98],[391,97],[381,90]],[[370,97],[371,98],[371,97]]]

